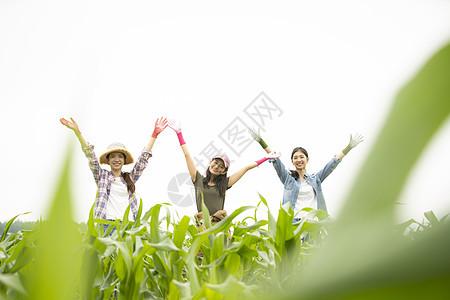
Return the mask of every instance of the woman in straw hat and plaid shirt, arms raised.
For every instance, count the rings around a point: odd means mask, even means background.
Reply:
[[[94,218],[115,220],[122,219],[128,205],[130,205],[131,220],[136,218],[138,202],[135,194],[135,182],[139,179],[152,156],[151,150],[158,134],[167,126],[165,118],[159,118],[155,122],[155,128],[150,140],[142,150],[131,172],[122,172],[124,165],[134,162],[133,156],[121,143],[112,143],[108,150],[98,160],[94,153],[94,146],[87,143],[81,134],[77,122],[70,118],[64,118],[60,122],[73,130],[80,141],[82,150],[89,160],[89,166],[97,183],[98,193],[94,205]],[[103,169],[100,164],[107,164],[111,171]]]

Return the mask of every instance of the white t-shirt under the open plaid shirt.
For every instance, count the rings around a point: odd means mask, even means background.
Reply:
[[[109,193],[108,204],[106,205],[106,218],[122,220],[123,214],[129,204],[127,185],[122,182],[121,177],[115,177],[114,181],[111,182],[111,192]],[[134,220],[131,209],[128,219]]]

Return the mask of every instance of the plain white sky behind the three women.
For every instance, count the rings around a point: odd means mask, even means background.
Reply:
[[[263,137],[286,166],[303,146],[307,170],[318,171],[351,132],[365,136],[323,184],[337,217],[396,92],[449,37],[444,0],[0,0],[0,220],[45,216],[70,140],[75,217],[87,219],[96,186],[60,117],[78,121],[98,156],[120,141],[137,158],[156,118],[172,116],[193,156],[213,142],[229,153],[232,173],[265,152],[252,143],[237,156],[219,135],[237,117],[251,124],[244,110],[261,92],[282,111]],[[145,210],[170,202],[170,180],[187,171],[170,129],[153,153],[137,183]],[[450,122],[416,166],[400,219],[450,212],[448,153]],[[256,205],[258,192],[275,213],[283,186],[269,163],[228,191],[225,209]]]

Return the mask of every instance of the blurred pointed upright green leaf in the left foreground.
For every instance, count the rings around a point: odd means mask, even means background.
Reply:
[[[67,155],[56,185],[48,218],[39,235],[39,250],[29,273],[33,299],[69,299],[74,291],[77,244],[81,241],[72,220],[70,172],[73,147]]]

